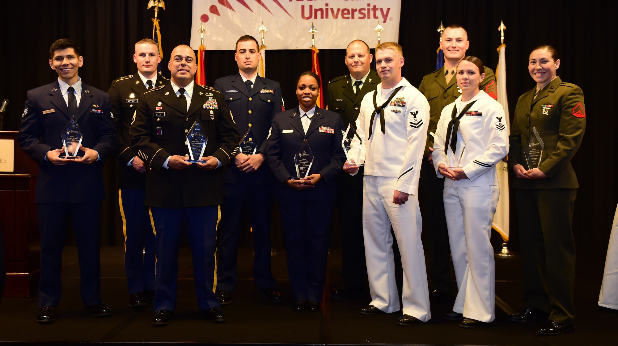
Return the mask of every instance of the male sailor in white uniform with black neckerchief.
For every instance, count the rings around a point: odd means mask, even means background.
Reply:
[[[358,157],[360,150],[360,162],[365,162],[363,236],[371,303],[359,312],[400,310],[392,225],[404,269],[403,316],[397,324],[408,326],[431,318],[417,197],[430,108],[425,96],[401,77],[399,44],[378,44],[375,57],[381,83],[363,98],[356,120],[360,138],[352,141],[349,155]],[[344,171],[356,174],[358,168],[344,166]]]

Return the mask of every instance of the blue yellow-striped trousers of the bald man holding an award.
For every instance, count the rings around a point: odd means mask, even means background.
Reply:
[[[218,206],[150,208],[155,229],[155,311],[174,310],[177,298],[178,251],[185,223],[193,258],[195,292],[200,310],[219,306],[215,257]]]

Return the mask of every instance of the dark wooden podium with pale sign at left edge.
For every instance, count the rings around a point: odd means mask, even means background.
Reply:
[[[0,131],[0,222],[7,272],[4,297],[36,294],[40,274],[35,205],[38,165],[19,148],[17,133]]]

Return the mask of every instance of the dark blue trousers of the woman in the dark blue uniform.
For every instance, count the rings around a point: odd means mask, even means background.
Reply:
[[[321,302],[334,201],[279,198],[294,302]]]

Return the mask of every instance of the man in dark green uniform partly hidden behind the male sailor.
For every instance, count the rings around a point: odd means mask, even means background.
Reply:
[[[364,41],[354,40],[345,49],[345,65],[350,74],[328,82],[328,109],[341,114],[344,129],[349,124],[354,125],[363,96],[376,90],[380,82],[378,73],[370,69],[372,60],[369,46]],[[338,179],[337,208],[341,219],[344,286],[332,289],[331,298],[347,299],[365,293],[367,278],[362,222],[363,168],[360,167],[359,174],[340,174]]]

